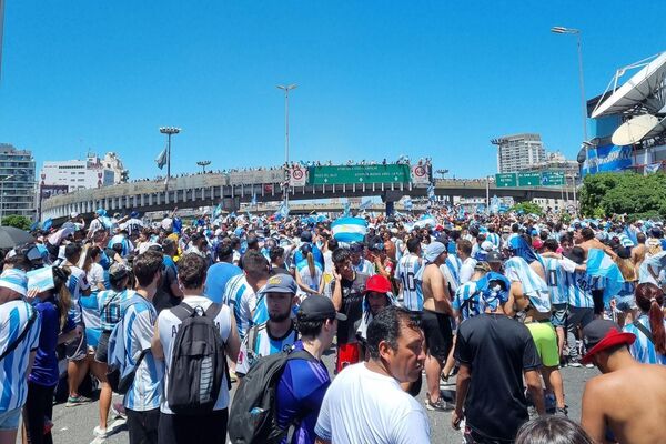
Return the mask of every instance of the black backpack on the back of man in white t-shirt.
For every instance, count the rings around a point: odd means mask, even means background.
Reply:
[[[224,341],[215,317],[222,305],[212,303],[204,312],[186,303],[171,309],[182,321],[171,353],[169,408],[179,415],[205,415],[213,411],[225,375]]]

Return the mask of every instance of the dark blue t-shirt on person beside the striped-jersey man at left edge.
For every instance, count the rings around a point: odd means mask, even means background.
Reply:
[[[39,313],[41,331],[39,334],[39,346],[34,355],[34,363],[28,380],[44,387],[58,384],[58,356],[56,346],[60,335],[60,310],[56,305],[56,299],[51,295],[47,300],[33,305]],[[77,325],[71,316],[68,316],[63,333],[74,330]]]

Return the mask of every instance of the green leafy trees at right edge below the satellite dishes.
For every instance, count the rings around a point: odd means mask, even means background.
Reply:
[[[581,212],[586,216],[627,214],[630,219],[666,216],[666,174],[634,172],[585,176]]]

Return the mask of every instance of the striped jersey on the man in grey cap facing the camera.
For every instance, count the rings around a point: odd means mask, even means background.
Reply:
[[[236,363],[236,373],[240,375],[248,374],[250,369],[252,369],[260,357],[285,352],[299,340],[299,331],[294,329],[293,324],[289,332],[282,337],[272,336],[266,323],[253,326],[252,329],[256,329],[254,347],[252,347],[253,344],[250,344],[250,339],[253,336],[253,334],[250,333],[251,330],[248,331],[248,335],[243,342],[241,342],[239,361]]]

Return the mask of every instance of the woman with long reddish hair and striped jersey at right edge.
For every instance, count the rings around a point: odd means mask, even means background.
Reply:
[[[644,364],[666,364],[666,321],[664,320],[664,292],[646,282],[636,286],[636,305],[639,316],[625,325],[636,341],[629,345],[632,356]]]

